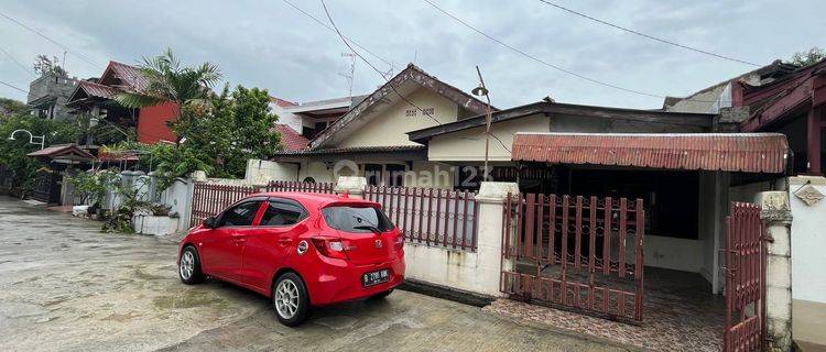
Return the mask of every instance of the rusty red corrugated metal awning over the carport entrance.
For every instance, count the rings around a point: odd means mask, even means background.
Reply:
[[[781,133],[517,133],[521,162],[783,173],[789,143]]]

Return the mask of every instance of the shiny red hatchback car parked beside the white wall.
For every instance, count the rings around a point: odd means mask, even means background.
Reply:
[[[178,274],[187,285],[211,276],[267,295],[292,327],[312,306],[389,295],[404,279],[404,237],[377,202],[257,194],[189,231]]]

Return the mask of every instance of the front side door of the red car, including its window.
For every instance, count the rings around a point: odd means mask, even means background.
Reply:
[[[200,260],[206,273],[227,280],[239,280],[244,237],[253,230],[252,223],[262,202],[263,198],[244,199],[218,217],[217,227],[205,237],[200,246]]]

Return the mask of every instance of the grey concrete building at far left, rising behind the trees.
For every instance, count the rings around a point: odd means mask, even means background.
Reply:
[[[47,73],[29,85],[26,106],[32,113],[50,120],[74,119],[66,102],[77,86],[76,77]]]

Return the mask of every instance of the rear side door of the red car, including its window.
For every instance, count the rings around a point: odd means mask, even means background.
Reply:
[[[265,207],[258,226],[244,238],[241,270],[243,283],[261,292],[269,289],[272,275],[297,255],[298,235],[307,230],[303,220],[308,216],[292,199],[273,197]]]

